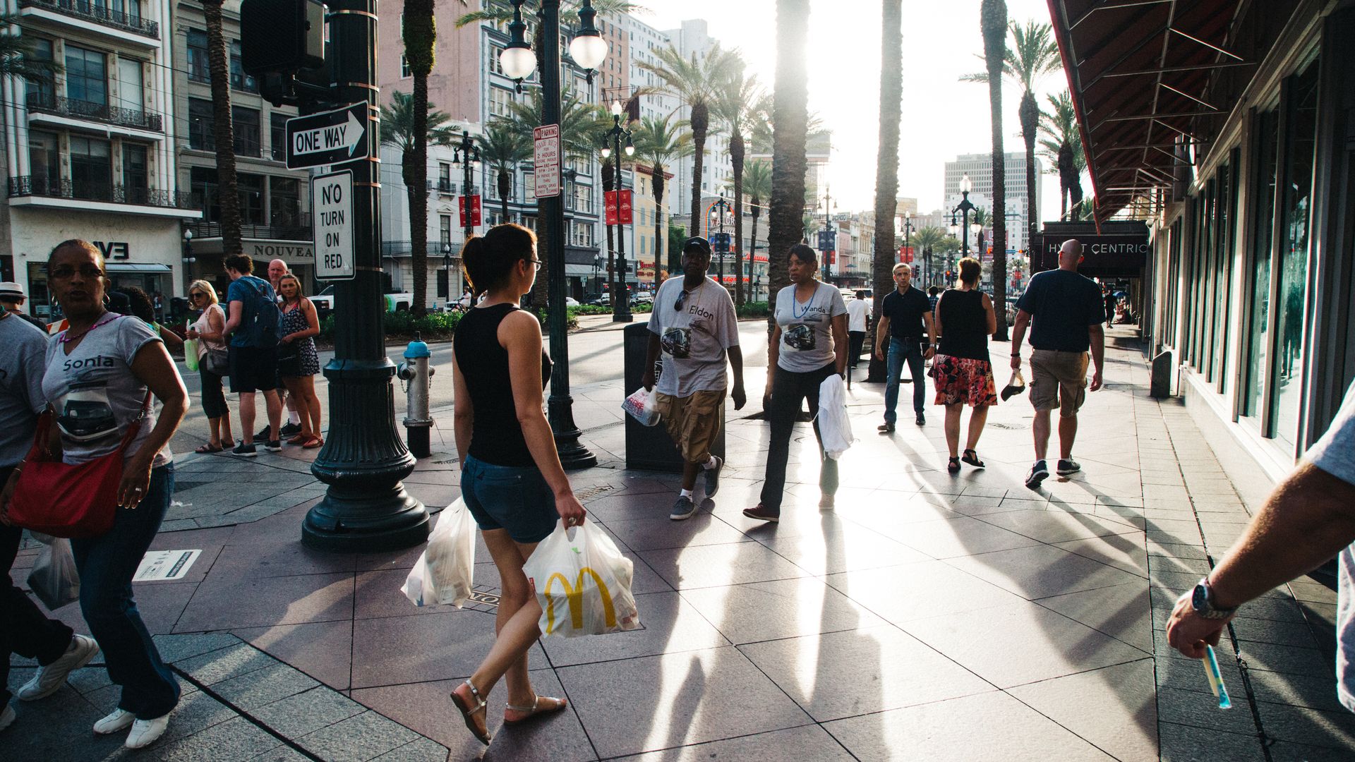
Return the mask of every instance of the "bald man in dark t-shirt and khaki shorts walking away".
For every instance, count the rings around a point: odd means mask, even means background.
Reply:
[[[1049,449],[1049,411],[1058,408],[1058,466],[1060,476],[1081,470],[1073,460],[1073,441],[1077,438],[1077,409],[1087,399],[1087,353],[1096,363],[1092,373],[1092,392],[1102,388],[1102,366],[1106,354],[1106,331],[1102,323],[1106,310],[1096,283],[1077,274],[1083,260],[1083,244],[1076,239],[1064,241],[1058,249],[1058,270],[1037,273],[1016,302],[1016,323],[1012,325],[1012,370],[1020,370],[1022,340],[1026,327],[1031,327],[1030,343],[1030,403],[1035,407],[1035,465],[1026,476],[1026,487],[1035,489],[1049,477],[1045,454]]]

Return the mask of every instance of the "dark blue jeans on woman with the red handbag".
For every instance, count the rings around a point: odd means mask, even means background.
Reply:
[[[108,679],[122,686],[118,708],[138,720],[163,717],[179,704],[179,682],[160,660],[131,599],[131,576],[160,532],[171,495],[173,464],[150,469],[146,496],[136,508],[118,508],[106,534],[70,541],[80,572],[80,613],[103,649]]]

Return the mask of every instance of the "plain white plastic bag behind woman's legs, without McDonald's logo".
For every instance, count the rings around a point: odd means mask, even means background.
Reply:
[[[461,607],[470,598],[476,568],[476,522],[466,503],[447,506],[428,538],[419,563],[405,578],[405,597],[415,606],[451,603]]]

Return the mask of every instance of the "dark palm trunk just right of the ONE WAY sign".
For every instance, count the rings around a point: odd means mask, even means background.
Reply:
[[[404,39],[405,58],[415,77],[413,92],[413,156],[404,167],[405,187],[409,194],[409,266],[413,268],[415,296],[409,308],[423,317],[428,305],[428,73],[432,71],[432,52],[436,28],[432,20],[434,0],[405,0]],[[466,157],[469,161],[470,159]],[[466,205],[470,214],[470,205]]]

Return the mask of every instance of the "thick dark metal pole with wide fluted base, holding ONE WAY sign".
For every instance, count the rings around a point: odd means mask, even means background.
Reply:
[[[381,194],[377,174],[377,0],[332,0],[336,95],[367,104],[366,159],[348,164],[354,191],[356,277],[336,281],[329,437],[310,472],[329,485],[306,513],[301,541],[325,550],[396,550],[428,538],[428,511],[401,480],[415,457],[396,430],[396,365],[386,357],[381,298]]]

